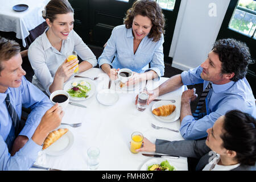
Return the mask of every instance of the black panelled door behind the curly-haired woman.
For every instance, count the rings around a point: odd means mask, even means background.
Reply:
[[[126,11],[135,0],[69,0],[75,10],[74,30],[85,43],[103,47],[115,26],[123,24]],[[163,9],[166,18],[164,59],[168,57],[181,0],[175,1],[174,10]]]

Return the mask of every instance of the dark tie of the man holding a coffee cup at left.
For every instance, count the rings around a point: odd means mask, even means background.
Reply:
[[[9,111],[9,114],[11,116],[11,120],[13,120],[13,126],[14,126],[14,129],[15,129],[15,136],[18,136],[19,131],[20,131],[20,127],[21,127],[20,126],[20,121],[19,121],[19,116],[16,113],[13,105],[11,105],[9,93],[7,93],[7,96],[5,98],[5,102],[6,102],[6,106],[7,106],[7,109]]]

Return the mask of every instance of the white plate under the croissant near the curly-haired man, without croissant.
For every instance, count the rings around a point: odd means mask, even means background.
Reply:
[[[160,106],[163,106],[163,105],[168,105],[168,104],[172,104],[172,105],[175,105],[176,108],[174,110],[174,112],[170,115],[167,115],[167,116],[157,116],[155,114],[154,117],[156,119],[158,119],[159,121],[162,121],[162,122],[167,122],[167,123],[170,123],[170,122],[174,122],[176,121],[177,119],[179,119],[180,117],[180,102],[181,102],[181,97],[180,96],[177,96],[177,97],[172,97],[172,98],[168,98],[168,99],[173,99],[175,100],[176,102],[171,102],[171,101],[158,101],[158,102],[155,102],[154,105],[152,105],[152,110],[154,110],[155,108],[157,107],[160,107]],[[151,111],[152,111],[151,110]]]

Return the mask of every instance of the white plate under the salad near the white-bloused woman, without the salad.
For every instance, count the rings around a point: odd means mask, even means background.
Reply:
[[[89,84],[90,84],[90,91],[88,92],[88,97],[86,97],[86,98],[84,98],[84,97],[82,97],[82,98],[79,98],[79,97],[69,97],[70,100],[73,100],[73,101],[84,101],[84,100],[87,100],[87,99],[89,99],[90,97],[92,97],[93,94],[95,93],[95,91],[96,91],[96,86],[95,86],[95,84],[93,83],[92,80],[86,79],[86,78],[73,78],[72,80],[68,81],[68,82],[64,85],[63,90],[68,91],[69,89],[71,89],[71,88],[73,87],[73,86],[72,86],[72,83],[73,83],[73,82],[77,82],[77,84],[79,84],[79,82],[81,82],[81,81],[89,82]],[[89,84],[86,83],[86,86],[89,86]]]

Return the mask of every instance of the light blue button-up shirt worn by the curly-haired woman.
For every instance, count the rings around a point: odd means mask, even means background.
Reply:
[[[102,64],[107,63],[112,68],[129,68],[137,73],[153,70],[159,77],[163,76],[163,34],[158,42],[154,42],[148,36],[145,36],[135,54],[133,51],[133,39],[131,28],[127,29],[124,24],[115,27],[102,55],[98,58],[99,66],[101,67]],[[150,69],[148,69],[149,63]]]

